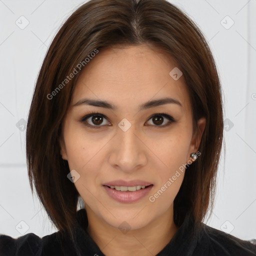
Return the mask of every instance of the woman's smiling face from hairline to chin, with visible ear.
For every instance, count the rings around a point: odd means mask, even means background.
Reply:
[[[113,227],[125,220],[137,229],[173,210],[184,165],[205,125],[198,120],[201,131],[193,133],[183,76],[169,75],[176,66],[141,45],[99,50],[81,72],[63,120],[60,153],[75,170],[74,185],[91,217]],[[146,104],[167,97],[167,103]]]

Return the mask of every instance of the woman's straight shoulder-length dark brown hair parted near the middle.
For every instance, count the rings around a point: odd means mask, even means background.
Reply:
[[[206,118],[198,148],[201,155],[187,165],[173,202],[174,223],[180,226],[188,211],[200,223],[209,205],[212,211],[223,136],[222,94],[203,34],[187,14],[166,0],[90,0],[66,19],[53,38],[28,113],[29,184],[32,192],[34,184],[59,233],[71,234],[79,198],[74,183],[67,178],[70,170],[61,158],[59,138],[76,80],[86,68],[84,59],[96,50],[100,54],[103,48],[142,44],[161,49],[178,64],[189,93],[195,132],[196,120]],[[66,80],[74,70],[77,74]]]

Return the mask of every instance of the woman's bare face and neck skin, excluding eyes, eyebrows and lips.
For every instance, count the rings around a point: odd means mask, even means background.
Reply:
[[[192,111],[183,76],[169,72],[177,64],[158,49],[147,45],[112,47],[99,53],[82,70],[63,120],[60,154],[70,170],[80,177],[74,185],[85,203],[87,231],[105,255],[155,255],[170,241],[178,227],[173,222],[173,200],[184,172],[158,197],[156,193],[182,164],[196,152],[205,118],[192,131]],[[177,99],[182,107],[168,103],[139,111],[148,100]],[[88,97],[112,102],[116,110],[91,105],[72,106]],[[99,124],[89,117],[87,127],[80,119],[89,111],[104,114]],[[164,126],[149,117],[165,112],[175,122]],[[123,131],[118,123],[126,118],[131,126]],[[111,125],[107,125],[110,123]],[[158,126],[157,126],[158,125]],[[161,127],[159,127],[161,125]],[[153,184],[150,193],[137,202],[117,202],[105,192],[103,183],[115,179],[141,179]],[[126,221],[130,229],[118,226]]]

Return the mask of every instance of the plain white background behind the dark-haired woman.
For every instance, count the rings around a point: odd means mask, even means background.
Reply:
[[[23,234],[17,225],[23,231],[27,225],[24,234],[56,231],[32,197],[25,130],[16,123],[27,120],[36,77],[54,34],[82,2],[0,0],[0,233],[12,237]],[[215,207],[204,222],[242,239],[256,238],[256,0],[171,2],[187,12],[207,38],[222,82],[224,118],[233,123],[224,131],[225,161],[222,151]],[[29,21],[24,29],[15,23],[21,23],[22,15],[22,24]]]

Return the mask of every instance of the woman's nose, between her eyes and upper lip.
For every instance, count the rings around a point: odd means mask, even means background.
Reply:
[[[147,147],[143,143],[143,135],[137,132],[135,125],[127,130],[117,128],[109,156],[109,164],[125,172],[131,172],[147,162]]]

